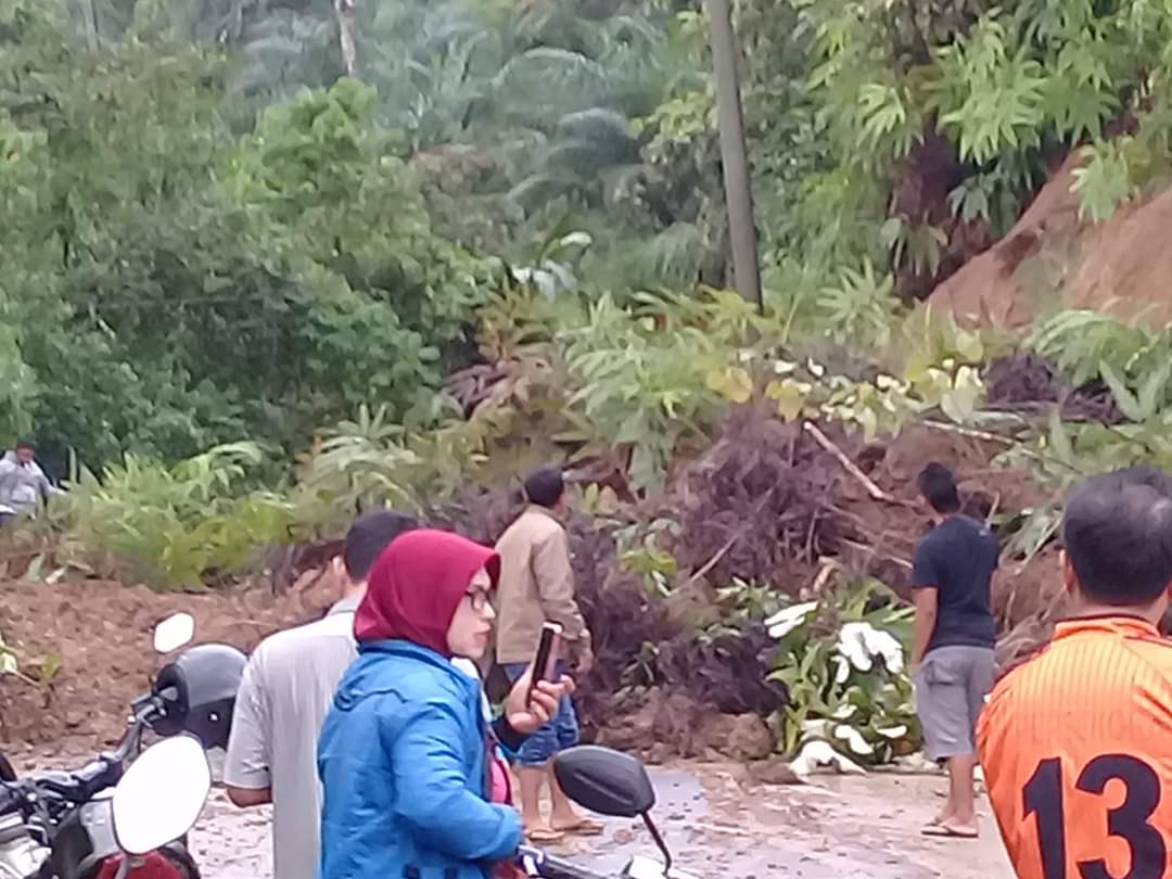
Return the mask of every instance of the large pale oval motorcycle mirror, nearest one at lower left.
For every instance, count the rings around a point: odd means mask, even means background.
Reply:
[[[212,786],[203,747],[164,738],[130,764],[114,789],[114,837],[128,854],[146,854],[191,830]]]

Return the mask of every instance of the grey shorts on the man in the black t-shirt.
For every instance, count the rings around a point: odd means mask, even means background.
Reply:
[[[976,755],[976,718],[993,679],[990,647],[936,647],[924,657],[912,683],[931,759]]]

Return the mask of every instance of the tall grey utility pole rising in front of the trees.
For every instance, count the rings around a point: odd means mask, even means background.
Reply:
[[[713,70],[716,74],[716,111],[721,129],[721,164],[724,169],[724,202],[732,239],[732,278],[737,292],[757,311],[764,312],[761,266],[757,263],[757,227],[752,220],[749,156],[744,137],[744,111],[737,81],[736,35],[729,0],[708,0],[713,20]]]

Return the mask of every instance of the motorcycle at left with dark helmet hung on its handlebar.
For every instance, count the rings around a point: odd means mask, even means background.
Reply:
[[[170,653],[193,634],[191,615],[176,614],[156,627],[155,649]],[[123,815],[120,823],[118,790],[139,791],[132,798],[141,802],[141,792],[148,790],[142,779],[149,776],[158,797],[148,811],[161,820],[171,816],[178,822],[186,815],[175,811],[190,802],[179,796],[185,795],[182,784],[197,777],[185,752],[197,748],[206,766],[206,750],[227,747],[245,661],[243,653],[226,645],[189,647],[131,703],[127,731],[113,750],[79,770],[48,770],[0,782],[0,879],[199,879],[185,834],[207,791],[180,833],[138,851],[143,836],[125,827],[144,819]],[[143,750],[146,731],[164,738]],[[169,776],[172,763],[173,779]]]

